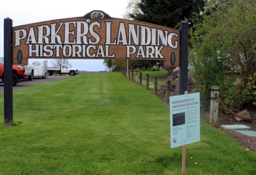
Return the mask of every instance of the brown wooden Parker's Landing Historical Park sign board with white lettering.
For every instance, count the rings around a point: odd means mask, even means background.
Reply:
[[[102,11],[13,27],[13,64],[28,58],[152,59],[179,66],[180,30]]]

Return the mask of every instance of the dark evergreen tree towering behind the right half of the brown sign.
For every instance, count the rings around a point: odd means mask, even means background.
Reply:
[[[181,21],[193,18],[193,15],[203,11],[204,0],[141,0],[138,3],[139,11],[129,14],[130,18],[157,24],[170,28],[179,28]],[[148,67],[156,64],[153,60]],[[143,60],[138,61],[139,65],[145,65]],[[168,75],[172,73],[173,67],[165,67]]]

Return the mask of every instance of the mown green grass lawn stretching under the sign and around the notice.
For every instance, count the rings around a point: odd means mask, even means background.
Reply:
[[[181,174],[169,106],[120,73],[13,91],[13,127],[4,127],[3,94],[0,106],[0,175]],[[200,131],[187,145],[185,174],[256,174],[256,153],[209,125]]]

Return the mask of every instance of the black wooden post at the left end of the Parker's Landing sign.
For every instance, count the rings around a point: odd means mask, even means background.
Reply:
[[[4,19],[4,125],[13,125],[12,20]]]

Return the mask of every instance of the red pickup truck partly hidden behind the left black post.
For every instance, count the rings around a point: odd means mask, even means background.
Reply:
[[[25,66],[12,65],[13,86],[15,86],[19,80],[25,76]],[[0,79],[4,81],[4,57],[0,57]]]

